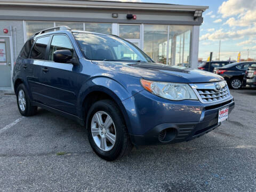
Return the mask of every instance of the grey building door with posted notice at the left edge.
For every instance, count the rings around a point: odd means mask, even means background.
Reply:
[[[11,44],[9,37],[0,37],[0,87],[11,87]]]

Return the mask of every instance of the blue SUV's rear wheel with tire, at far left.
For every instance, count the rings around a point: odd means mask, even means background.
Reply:
[[[24,84],[20,84],[16,91],[17,105],[22,116],[33,116],[36,114],[37,107],[31,105],[28,91]],[[22,105],[22,103],[25,105]]]

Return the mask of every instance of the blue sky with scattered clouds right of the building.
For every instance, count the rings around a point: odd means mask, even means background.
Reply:
[[[199,58],[204,60],[213,52],[213,60],[236,60],[256,57],[256,0],[119,0],[126,2],[170,3],[203,5],[209,9],[203,13],[200,26]],[[249,51],[248,51],[249,50]]]

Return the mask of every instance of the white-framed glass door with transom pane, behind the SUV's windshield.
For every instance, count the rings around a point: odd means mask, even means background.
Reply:
[[[141,49],[141,26],[119,24],[119,37],[126,39]]]

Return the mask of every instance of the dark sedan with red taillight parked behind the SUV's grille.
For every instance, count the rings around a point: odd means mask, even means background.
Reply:
[[[255,62],[235,62],[221,68],[214,68],[214,73],[221,75],[233,89],[243,86],[246,70]]]

